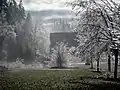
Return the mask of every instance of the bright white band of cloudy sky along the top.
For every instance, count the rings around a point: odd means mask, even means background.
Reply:
[[[19,0],[18,0],[19,1]],[[72,0],[23,0],[23,5],[26,10],[43,10],[43,9],[68,9],[71,7],[66,5],[66,2]]]

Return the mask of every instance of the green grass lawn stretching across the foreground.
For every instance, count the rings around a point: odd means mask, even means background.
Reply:
[[[24,70],[7,72],[1,80],[0,90],[120,90],[120,83],[88,70]]]

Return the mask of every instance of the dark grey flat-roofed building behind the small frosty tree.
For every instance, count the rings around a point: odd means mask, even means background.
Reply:
[[[57,42],[65,42],[68,43],[70,47],[77,47],[77,33],[76,32],[57,32],[50,33],[50,48],[53,48]]]

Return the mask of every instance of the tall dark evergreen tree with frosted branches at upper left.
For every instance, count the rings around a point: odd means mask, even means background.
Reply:
[[[0,60],[2,47],[6,36],[13,36],[16,23],[21,23],[25,18],[22,0],[17,5],[15,0],[0,0]]]

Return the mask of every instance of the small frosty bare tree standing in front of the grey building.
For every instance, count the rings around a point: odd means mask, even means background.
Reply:
[[[67,60],[65,59],[66,53],[69,51],[69,47],[65,42],[57,43],[54,48],[51,49],[51,60],[56,62],[56,67],[63,68],[67,66]]]

